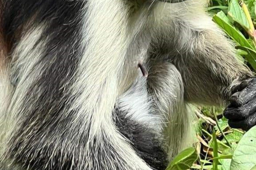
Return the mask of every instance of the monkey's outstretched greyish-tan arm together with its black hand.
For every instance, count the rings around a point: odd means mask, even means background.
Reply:
[[[182,75],[185,100],[212,105],[231,101],[224,116],[231,127],[247,130],[256,124],[255,79],[250,79],[252,72],[236,58],[232,44],[198,8],[197,14],[173,21],[177,51],[171,59]]]

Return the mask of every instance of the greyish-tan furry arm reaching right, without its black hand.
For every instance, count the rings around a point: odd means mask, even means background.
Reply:
[[[172,45],[176,51],[171,51],[168,57],[182,75],[185,100],[225,104],[230,97],[232,82],[246,79],[252,73],[238,61],[234,47],[200,4],[196,5],[195,13],[188,12],[173,20]]]

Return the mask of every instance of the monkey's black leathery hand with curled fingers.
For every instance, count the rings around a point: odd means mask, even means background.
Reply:
[[[243,80],[231,88],[230,105],[224,116],[232,128],[249,130],[256,125],[256,78]]]

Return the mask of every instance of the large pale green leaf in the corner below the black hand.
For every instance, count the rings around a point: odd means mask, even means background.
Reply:
[[[256,165],[256,126],[239,141],[231,161],[230,170],[250,170]]]

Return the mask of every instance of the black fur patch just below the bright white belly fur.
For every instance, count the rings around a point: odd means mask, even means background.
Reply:
[[[130,141],[137,154],[156,170],[165,170],[168,164],[167,154],[159,136],[153,132],[154,127],[145,127],[126,117],[124,111],[116,107],[115,124],[119,131]],[[128,112],[128,111],[127,111]]]

